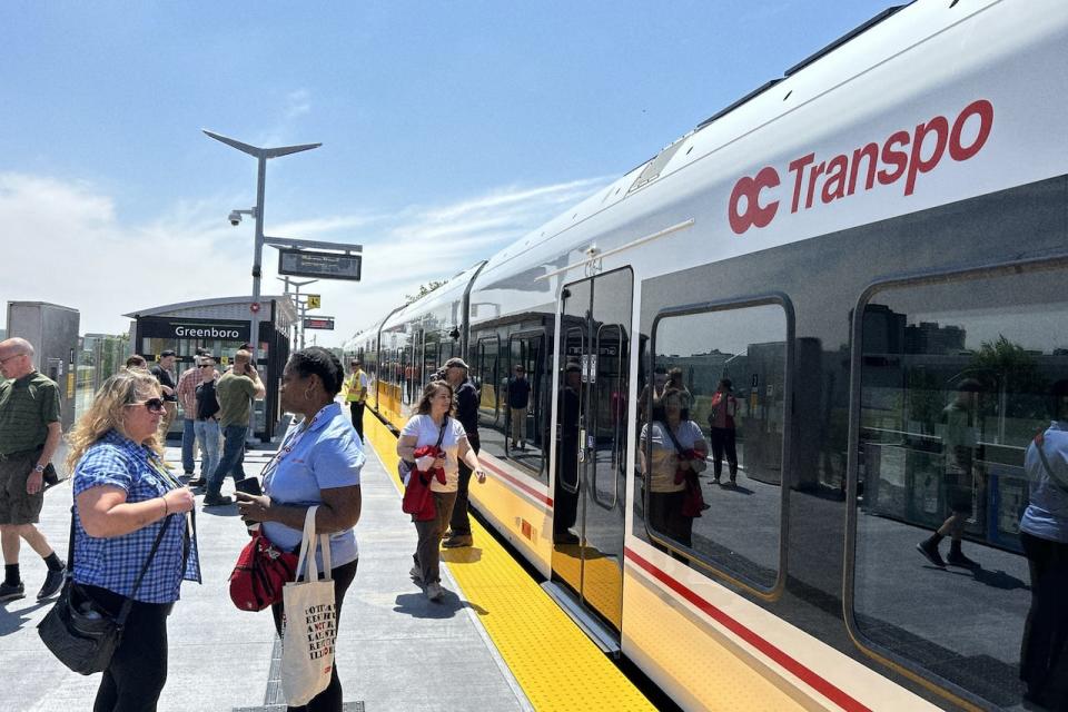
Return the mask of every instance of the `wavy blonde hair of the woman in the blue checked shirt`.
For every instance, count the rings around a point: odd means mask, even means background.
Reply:
[[[78,461],[85,455],[89,446],[98,442],[109,431],[118,431],[126,435],[122,428],[123,408],[139,400],[157,398],[160,395],[159,382],[147,370],[129,368],[120,370],[103,382],[92,405],[67,435],[69,451],[67,453],[67,468],[73,472]],[[156,432],[141,445],[147,446],[162,458],[164,443],[160,433]]]

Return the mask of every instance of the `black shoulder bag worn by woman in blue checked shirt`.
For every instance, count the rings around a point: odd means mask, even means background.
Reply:
[[[106,611],[97,604],[80,585],[75,583],[72,574],[75,571],[75,513],[71,507],[70,513],[70,544],[68,546],[68,560],[70,574],[63,583],[63,590],[59,594],[59,600],[52,610],[48,612],[44,620],[37,625],[37,633],[41,636],[44,645],[52,652],[59,662],[82,675],[91,675],[97,672],[103,672],[111,664],[111,656],[115,654],[119,642],[122,640],[122,629],[126,627],[126,619],[130,615],[130,609],[134,606],[134,597],[141,586],[141,580],[148,571],[149,565],[156,557],[156,551],[159,543],[170,526],[170,516],[164,521],[164,525],[156,535],[156,542],[152,544],[152,551],[141,566],[141,573],[138,574],[134,583],[134,591],[119,610],[117,616]]]

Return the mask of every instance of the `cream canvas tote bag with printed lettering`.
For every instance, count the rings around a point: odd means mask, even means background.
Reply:
[[[289,706],[305,705],[326,690],[334,670],[337,617],[330,578],[330,537],[315,535],[317,510],[308,507],[304,518],[297,561],[297,576],[303,575],[303,581],[287,583],[281,592],[286,612],[281,631],[281,689]],[[323,581],[315,563],[316,544],[323,550]]]

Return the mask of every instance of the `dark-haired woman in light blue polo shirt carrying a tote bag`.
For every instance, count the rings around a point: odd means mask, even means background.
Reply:
[[[278,453],[265,468],[264,495],[237,493],[241,518],[261,522],[264,535],[286,551],[300,546],[308,507],[319,507],[315,528],[317,533],[330,535],[338,625],[345,592],[356,577],[358,551],[353,527],[359,520],[359,471],[364,466],[356,431],[342,406],[334,402],[344,378],[342,364],[324,348],[313,346],[289,358],[281,374],[281,407],[304,419],[289,428]],[[273,605],[271,613],[280,634],[283,604]],[[300,709],[340,712],[342,684],[336,662],[327,689]]]

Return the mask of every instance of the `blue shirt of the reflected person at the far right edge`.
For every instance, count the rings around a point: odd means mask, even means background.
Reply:
[[[1031,483],[1030,504],[1020,520],[1020,531],[1031,536],[1068,544],[1068,422],[1054,421],[1042,434],[1042,453],[1054,471],[1050,476],[1031,443],[1024,471]]]

